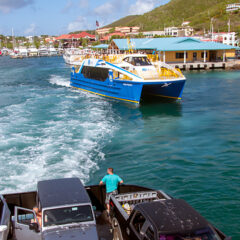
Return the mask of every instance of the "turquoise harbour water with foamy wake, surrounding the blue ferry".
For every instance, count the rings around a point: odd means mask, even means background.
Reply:
[[[240,72],[188,73],[180,102],[73,90],[62,58],[0,58],[0,192],[40,179],[124,179],[183,198],[240,239]]]

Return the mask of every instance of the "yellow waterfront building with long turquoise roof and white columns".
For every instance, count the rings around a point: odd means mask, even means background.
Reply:
[[[226,62],[235,58],[237,47],[216,42],[203,42],[194,38],[136,38],[113,39],[109,49],[129,50],[157,54],[167,63]]]

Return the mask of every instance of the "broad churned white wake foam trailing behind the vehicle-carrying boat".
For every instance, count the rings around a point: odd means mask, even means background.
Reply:
[[[38,92],[0,109],[0,192],[33,190],[41,179],[75,176],[87,182],[104,161],[103,148],[118,128],[111,103],[86,97],[75,103],[76,92],[65,94],[53,100],[54,92]]]

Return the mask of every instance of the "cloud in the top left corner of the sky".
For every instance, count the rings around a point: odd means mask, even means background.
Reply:
[[[0,11],[9,13],[13,9],[25,7],[33,4],[34,0],[0,0]]]

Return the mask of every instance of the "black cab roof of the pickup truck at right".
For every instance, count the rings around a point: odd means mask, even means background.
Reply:
[[[182,199],[136,205],[161,234],[187,234],[208,227],[208,222]]]

